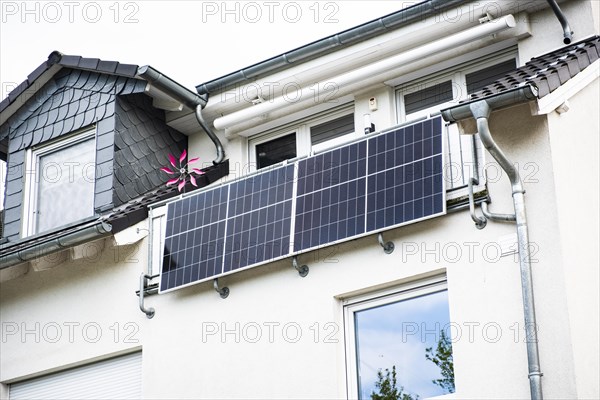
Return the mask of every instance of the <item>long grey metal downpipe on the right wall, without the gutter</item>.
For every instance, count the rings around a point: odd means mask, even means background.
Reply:
[[[532,400],[542,400],[542,372],[538,350],[537,324],[533,298],[533,280],[529,253],[529,233],[525,213],[525,197],[519,172],[504,155],[494,141],[488,125],[491,108],[485,100],[470,105],[473,117],[477,120],[477,131],[489,153],[508,174],[512,186],[513,203],[517,222],[519,246],[519,265],[521,269],[521,290],[523,292],[523,314],[525,319],[525,337],[527,340],[527,360],[529,367],[529,388]]]

